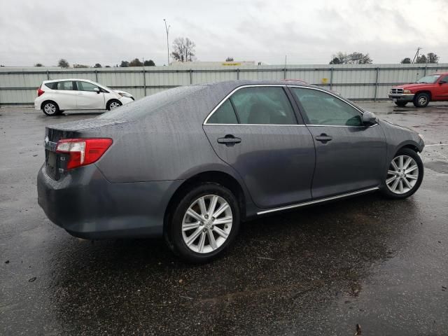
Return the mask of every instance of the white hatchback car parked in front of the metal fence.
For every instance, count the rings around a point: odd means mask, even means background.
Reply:
[[[92,80],[44,80],[37,89],[34,109],[42,110],[47,116],[57,116],[66,110],[113,110],[133,101],[132,94]]]

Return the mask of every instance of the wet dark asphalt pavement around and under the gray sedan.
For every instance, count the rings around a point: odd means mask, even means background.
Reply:
[[[245,223],[199,266],[161,239],[92,243],[50,223],[44,127],[97,115],[0,109],[0,335],[448,335],[448,104],[360,105],[423,134],[419,191]]]

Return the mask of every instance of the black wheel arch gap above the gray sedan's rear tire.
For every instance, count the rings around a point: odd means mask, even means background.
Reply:
[[[241,219],[245,218],[246,195],[239,181],[237,181],[237,179],[235,179],[234,176],[225,172],[220,172],[216,170],[201,172],[183,181],[181,186],[179,186],[176,189],[176,191],[174,191],[174,194],[172,195],[165,209],[165,215],[163,221],[164,235],[167,231],[165,229],[167,228],[167,224],[169,223],[169,219],[170,216],[172,215],[174,206],[181,200],[181,197],[183,197],[183,195],[188,193],[188,190],[190,190],[191,188],[193,188],[194,186],[196,186],[198,183],[201,182],[218,183],[221,186],[228,188],[235,195],[235,197],[237,197]]]

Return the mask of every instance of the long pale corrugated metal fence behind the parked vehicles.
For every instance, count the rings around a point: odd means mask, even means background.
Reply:
[[[448,64],[146,66],[59,69],[0,68],[0,105],[33,104],[43,80],[85,78],[125,90],[136,99],[179,85],[238,79],[300,79],[328,87],[349,99],[386,99],[392,85],[412,83]]]

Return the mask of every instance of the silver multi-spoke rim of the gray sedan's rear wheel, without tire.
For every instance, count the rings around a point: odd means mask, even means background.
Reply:
[[[196,253],[213,252],[228,239],[232,223],[230,204],[218,195],[204,195],[183,216],[183,241]]]

